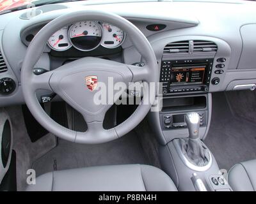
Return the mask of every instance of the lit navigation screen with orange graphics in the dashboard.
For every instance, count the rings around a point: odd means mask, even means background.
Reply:
[[[205,67],[205,65],[172,67],[170,85],[204,84]]]

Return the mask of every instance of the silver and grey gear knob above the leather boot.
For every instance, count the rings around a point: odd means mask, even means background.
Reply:
[[[189,138],[196,139],[199,137],[200,116],[196,112],[189,112],[185,116],[188,126]]]

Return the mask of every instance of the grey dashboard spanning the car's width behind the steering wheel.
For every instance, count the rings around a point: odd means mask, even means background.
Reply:
[[[88,1],[90,2],[90,1]],[[147,8],[147,9],[145,9]],[[24,103],[20,89],[20,68],[29,41],[28,34],[35,35],[47,22],[74,10],[104,10],[121,15],[136,25],[152,45],[159,70],[163,59],[212,58],[212,75],[220,78],[218,85],[210,84],[209,92],[233,90],[236,85],[256,84],[256,3],[248,1],[218,2],[138,2],[90,4],[84,1],[50,4],[32,9],[0,15],[0,50],[6,64],[0,70],[1,78],[12,78],[15,91],[0,94],[0,106]],[[239,15],[237,14],[239,13]],[[86,19],[85,19],[86,20]],[[95,19],[97,20],[97,19]],[[147,25],[164,24],[161,31],[150,31]],[[170,52],[163,54],[166,45],[175,42],[207,41],[216,50],[206,52]],[[205,50],[203,50],[205,51]],[[210,52],[209,52],[210,51]],[[45,46],[36,68],[54,69],[65,61],[93,55],[132,64],[143,61],[141,55],[126,36],[120,48],[100,48],[92,52],[52,52]],[[217,74],[217,59],[226,59],[223,73]]]

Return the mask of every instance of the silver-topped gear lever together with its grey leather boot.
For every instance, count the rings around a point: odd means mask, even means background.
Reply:
[[[209,162],[210,152],[203,147],[199,136],[200,116],[196,112],[186,114],[186,123],[189,131],[189,139],[180,139],[180,145],[184,156],[196,166],[205,166]]]

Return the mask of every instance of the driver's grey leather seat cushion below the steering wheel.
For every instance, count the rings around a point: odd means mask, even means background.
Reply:
[[[36,178],[27,191],[177,191],[164,171],[141,164],[53,171]]]

